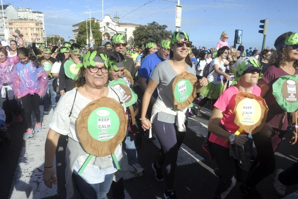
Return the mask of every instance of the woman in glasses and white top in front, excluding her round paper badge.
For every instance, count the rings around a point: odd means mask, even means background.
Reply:
[[[73,53],[77,54],[77,52],[72,50],[71,56],[73,56]],[[105,198],[105,195],[110,189],[113,175],[117,171],[116,166],[114,166],[116,164],[115,161],[111,155],[108,155],[100,158],[93,157],[83,172],[79,174],[80,168],[89,157],[89,154],[84,151],[81,145],[81,140],[77,132],[78,129],[76,128],[76,121],[80,111],[90,102],[105,97],[112,98],[121,103],[125,110],[125,104],[123,103],[123,97],[119,89],[106,85],[108,81],[109,59],[104,60],[102,57],[105,56],[105,54],[94,56],[91,59],[94,62],[94,66],[85,64],[80,67],[74,81],[77,89],[74,88],[66,92],[60,98],[49,124],[50,129],[45,144],[44,183],[49,188],[52,188],[52,183],[57,184],[55,170],[53,168],[55,151],[60,135],[68,135],[69,139],[66,148],[67,165],[65,170],[66,198],[72,198],[74,196],[75,186],[81,198]],[[86,54],[83,57],[86,57]],[[91,62],[89,58],[87,59]],[[119,161],[122,155],[122,145],[119,144],[115,147],[114,154]]]

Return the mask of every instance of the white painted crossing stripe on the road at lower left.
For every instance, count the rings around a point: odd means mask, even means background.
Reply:
[[[49,115],[44,116],[44,106],[41,105],[39,109],[42,131],[35,132],[32,138],[27,138],[27,134],[24,134],[24,143],[15,169],[9,198],[44,198],[58,194],[56,185],[49,189],[43,181],[44,145],[53,110]],[[35,126],[35,123],[36,119],[32,114],[32,125]],[[56,171],[56,158],[54,158],[53,167]]]

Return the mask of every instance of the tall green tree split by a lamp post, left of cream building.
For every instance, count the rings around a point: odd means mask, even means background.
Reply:
[[[90,21],[87,21],[87,26],[88,26],[88,39],[90,39],[90,30],[89,30]],[[99,23],[94,22],[94,19],[91,20],[92,39],[95,40],[94,46],[98,46],[102,42],[103,36],[99,29],[100,29]],[[86,22],[82,22],[79,26],[79,32],[75,40],[77,41],[78,44],[81,45],[81,47],[85,47],[86,39],[87,39]],[[90,40],[88,45],[90,45]]]

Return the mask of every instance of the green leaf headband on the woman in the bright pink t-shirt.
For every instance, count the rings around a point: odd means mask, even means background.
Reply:
[[[249,59],[249,62],[246,59]],[[232,81],[232,85],[234,85],[236,82],[239,82],[240,75],[242,75],[251,66],[256,67],[257,69],[260,69],[262,71],[263,66],[260,66],[255,59],[250,59],[250,58],[246,58],[246,59],[244,59],[243,62],[238,65],[237,71],[235,71],[233,68],[233,74],[234,74],[235,78]],[[263,75],[263,73],[260,72],[259,79],[262,78],[262,75]]]

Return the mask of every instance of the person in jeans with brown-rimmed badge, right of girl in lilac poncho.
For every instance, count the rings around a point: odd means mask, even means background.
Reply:
[[[53,82],[55,81],[55,77],[53,77],[51,74],[51,69],[52,69],[53,64],[56,62],[56,59],[51,57],[51,54],[52,54],[51,49],[49,47],[45,47],[43,49],[43,56],[41,56],[37,59],[37,61],[39,61],[41,63],[41,66],[44,68],[44,70],[48,74],[48,78],[49,78],[48,90],[46,91],[46,95],[43,97],[44,114],[45,115],[49,114],[49,108],[50,108],[49,95],[51,95],[52,108],[56,107],[57,93],[54,91],[54,88],[53,88]]]

